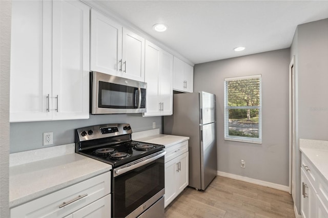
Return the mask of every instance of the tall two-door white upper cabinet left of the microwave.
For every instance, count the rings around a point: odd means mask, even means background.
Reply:
[[[89,118],[89,8],[13,1],[10,121]]]

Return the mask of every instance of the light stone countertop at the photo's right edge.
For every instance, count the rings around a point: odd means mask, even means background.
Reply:
[[[328,181],[328,141],[299,140],[300,150]]]

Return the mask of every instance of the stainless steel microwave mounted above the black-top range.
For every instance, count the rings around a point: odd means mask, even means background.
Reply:
[[[147,83],[92,71],[91,114],[146,112]]]

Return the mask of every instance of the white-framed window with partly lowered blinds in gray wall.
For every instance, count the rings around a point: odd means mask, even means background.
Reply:
[[[224,79],[224,139],[262,143],[261,75]]]

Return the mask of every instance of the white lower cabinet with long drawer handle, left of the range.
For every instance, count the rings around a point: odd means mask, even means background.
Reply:
[[[111,173],[105,172],[10,209],[10,217],[110,217]]]

